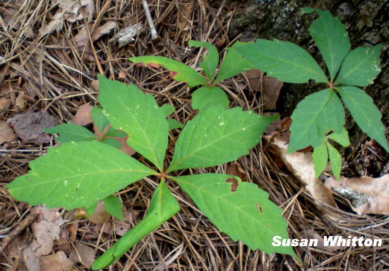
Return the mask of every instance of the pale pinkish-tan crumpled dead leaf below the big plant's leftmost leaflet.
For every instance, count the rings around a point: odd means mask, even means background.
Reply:
[[[37,206],[35,210],[39,212],[39,218],[31,224],[34,239],[29,248],[35,256],[47,255],[53,250],[54,240],[59,239],[61,226],[65,221],[58,208],[46,209],[45,206]]]

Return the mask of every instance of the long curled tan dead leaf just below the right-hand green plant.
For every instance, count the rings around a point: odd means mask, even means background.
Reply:
[[[267,141],[270,140],[270,146],[280,156],[286,168],[301,182],[302,185],[306,186],[307,190],[312,194],[313,198],[316,200],[316,204],[324,212],[324,214],[329,214],[326,204],[337,208],[332,192],[324,186],[321,180],[315,178],[315,169],[312,163],[311,152],[293,152],[286,154],[288,142],[281,140],[278,136],[272,139],[272,134],[265,135],[264,137]]]

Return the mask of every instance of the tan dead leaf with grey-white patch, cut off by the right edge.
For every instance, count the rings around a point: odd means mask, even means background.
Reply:
[[[389,174],[379,178],[328,177],[325,186],[348,198],[357,214],[389,215]]]

